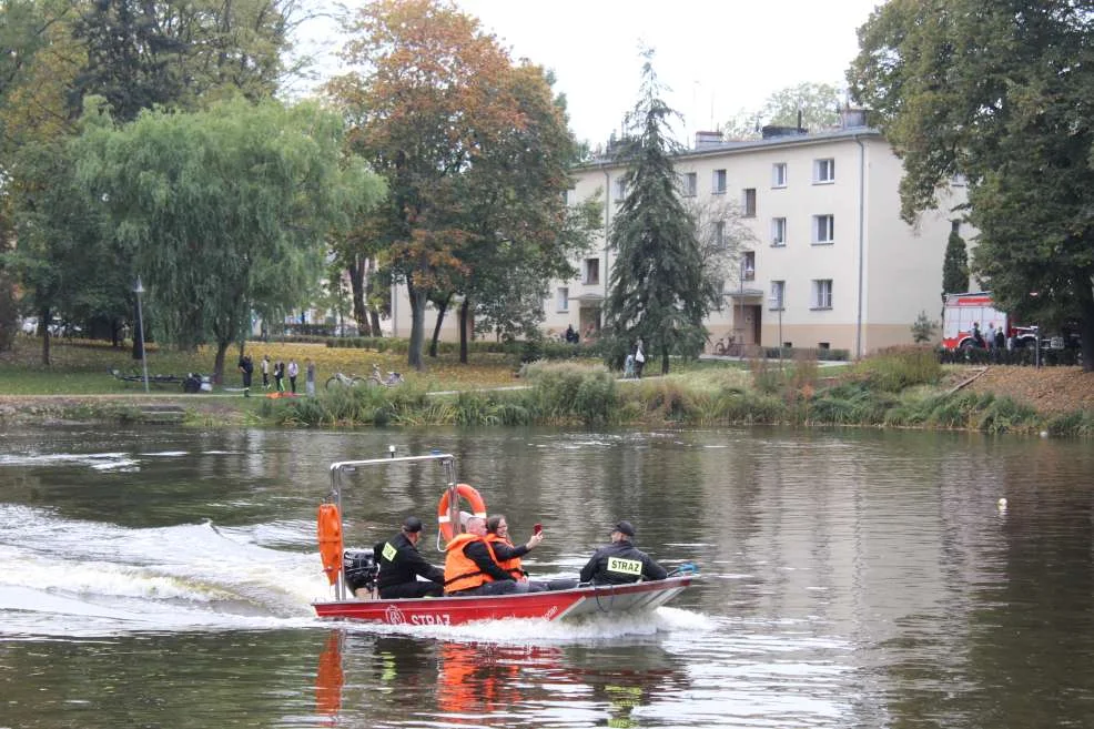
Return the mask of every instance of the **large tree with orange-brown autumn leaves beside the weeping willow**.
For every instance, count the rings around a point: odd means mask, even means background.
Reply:
[[[490,277],[507,275],[503,266],[536,280],[567,265],[563,193],[578,148],[543,70],[515,67],[452,3],[381,0],[347,31],[344,58],[361,70],[327,90],[355,125],[351,149],[388,182],[364,252],[382,251],[407,286],[407,360],[422,368],[430,300],[462,293],[467,316],[500,291]]]

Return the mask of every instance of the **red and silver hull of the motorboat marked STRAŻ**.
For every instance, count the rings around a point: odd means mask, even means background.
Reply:
[[[665,605],[686,587],[691,576],[577,587],[548,593],[398,600],[334,600],[314,603],[321,618],[364,620],[386,625],[462,625],[476,620],[538,618],[565,620],[596,614],[645,612]]]

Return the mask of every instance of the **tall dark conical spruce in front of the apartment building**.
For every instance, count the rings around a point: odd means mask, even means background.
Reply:
[[[639,101],[628,118],[631,135],[621,145],[627,194],[608,240],[615,264],[605,324],[611,358],[641,337],[647,356],[660,354],[665,374],[670,353],[702,351],[702,322],[720,304],[721,287],[705,267],[696,221],[680,202],[668,126],[675,112],[661,100],[651,55],[645,53]]]

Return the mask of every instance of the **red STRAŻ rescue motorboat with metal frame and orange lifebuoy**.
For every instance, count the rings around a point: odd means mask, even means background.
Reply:
[[[444,530],[458,528],[460,498],[475,513],[485,512],[482,497],[467,484],[456,483],[455,457],[450,454],[374,458],[331,464],[331,495],[320,507],[320,545],[324,571],[335,594],[332,600],[313,604],[321,618],[341,618],[387,625],[460,625],[476,620],[536,618],[563,620],[597,614],[624,614],[654,610],[691,585],[693,575],[679,574],[667,579],[628,585],[579,585],[578,587],[524,595],[407,598],[382,600],[373,590],[376,563],[371,549],[344,549],[342,545],[343,475],[364,467],[391,466],[415,462],[436,462],[444,470],[446,489],[440,499],[438,524]],[[439,546],[439,534],[438,534]],[[341,565],[332,559],[342,554]]]

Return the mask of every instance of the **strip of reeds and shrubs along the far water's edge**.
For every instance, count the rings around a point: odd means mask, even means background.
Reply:
[[[984,433],[1094,435],[1094,413],[1046,419],[1010,397],[939,389],[942,369],[924,347],[879,353],[819,386],[816,362],[780,371],[717,369],[619,381],[602,365],[535,363],[523,386],[430,395],[414,384],[266,401],[264,417],[300,426],[423,425],[854,425]]]

